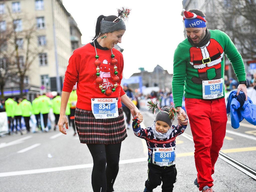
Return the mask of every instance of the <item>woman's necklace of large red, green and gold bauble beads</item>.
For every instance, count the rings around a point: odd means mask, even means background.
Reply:
[[[94,41],[95,41],[95,39],[94,39]],[[99,66],[101,64],[101,61],[99,60],[99,56],[97,55],[97,50],[96,50],[96,46],[95,46],[95,42],[94,41],[93,41],[93,44],[94,44],[94,48],[95,48],[95,52],[96,52],[96,56],[95,56],[96,60],[94,61],[94,65],[97,67],[96,68],[96,70],[97,70],[97,73],[96,73],[96,76],[97,76],[96,83],[99,84],[99,88],[101,89],[102,93],[110,96],[112,94],[112,92],[115,92],[115,88],[118,86],[117,82],[119,81],[119,77],[117,76],[118,71],[116,71],[117,67],[115,66],[117,64],[117,60],[114,59],[115,55],[113,54],[112,49],[111,49],[111,58],[112,58],[112,60],[110,61],[110,63],[112,65],[114,65],[114,70],[115,70],[114,74],[115,74],[115,76],[113,77],[113,81],[115,82],[115,84],[114,84],[114,88],[105,90],[105,89],[103,89],[103,86],[102,86],[102,79],[99,77],[100,76],[100,72],[99,72],[100,68],[99,68]]]

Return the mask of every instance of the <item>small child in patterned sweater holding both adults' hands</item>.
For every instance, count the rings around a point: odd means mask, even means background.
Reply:
[[[175,138],[182,134],[187,127],[187,125],[172,125],[174,116],[178,112],[171,106],[162,107],[152,126],[147,129],[140,126],[140,122],[143,120],[141,113],[138,119],[133,121],[134,134],[145,139],[148,147],[148,179],[145,182],[144,192],[152,192],[154,188],[161,185],[161,182],[163,182],[162,192],[173,191],[177,175]],[[178,119],[187,124],[183,115],[180,115]]]

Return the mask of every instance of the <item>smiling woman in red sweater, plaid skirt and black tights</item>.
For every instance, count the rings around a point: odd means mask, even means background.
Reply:
[[[122,102],[135,119],[139,110],[120,86],[123,55],[114,48],[126,30],[122,18],[130,10],[119,10],[121,18],[100,15],[91,43],[74,50],[69,59],[62,89],[59,131],[67,134],[65,115],[68,98],[77,82],[75,125],[81,143],[86,143],[93,158],[94,192],[112,192],[119,170],[121,142],[127,137]],[[120,15],[120,14],[119,14]]]

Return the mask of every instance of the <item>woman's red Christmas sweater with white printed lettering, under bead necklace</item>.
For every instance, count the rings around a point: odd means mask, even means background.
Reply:
[[[96,49],[99,60],[101,61],[100,78],[102,78],[103,89],[114,88],[115,82],[113,81],[114,65],[110,64],[111,50]],[[71,92],[73,86],[77,82],[77,104],[76,107],[91,111],[91,99],[92,98],[118,98],[118,108],[122,106],[121,96],[125,94],[123,88],[120,86],[123,78],[124,60],[120,51],[113,48],[113,54],[117,63],[117,71],[119,82],[115,92],[112,92],[110,96],[103,94],[99,88],[99,84],[96,83],[96,66],[94,65],[95,48],[90,43],[74,50],[73,55],[69,59],[69,64],[65,73],[62,91]]]

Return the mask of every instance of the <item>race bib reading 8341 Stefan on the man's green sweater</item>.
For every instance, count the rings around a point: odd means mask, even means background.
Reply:
[[[202,81],[203,99],[217,99],[223,96],[223,79]]]

